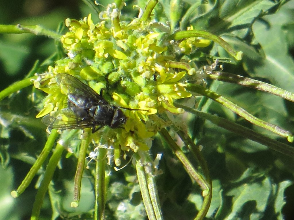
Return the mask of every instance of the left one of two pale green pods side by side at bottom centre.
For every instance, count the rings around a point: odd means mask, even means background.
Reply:
[[[144,169],[144,164],[142,162],[142,159],[138,155],[138,153],[135,153],[135,159],[136,159],[136,172],[138,177],[138,182],[140,185],[140,191],[143,199],[143,204],[148,216],[149,220],[157,220],[155,211],[153,209],[153,204],[151,201],[149,189],[148,189],[148,181]]]

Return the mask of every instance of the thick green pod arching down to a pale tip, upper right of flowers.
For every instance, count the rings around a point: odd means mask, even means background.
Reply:
[[[222,38],[217,35],[213,35],[207,31],[199,31],[199,30],[190,30],[190,31],[179,31],[168,37],[168,40],[182,40],[184,38],[195,38],[201,37],[210,39],[216,43],[218,43],[222,48],[224,48],[231,56],[233,56],[236,60],[241,60],[243,52],[235,51],[227,42],[225,42]]]

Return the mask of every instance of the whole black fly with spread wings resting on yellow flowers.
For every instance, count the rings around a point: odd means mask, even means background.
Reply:
[[[56,75],[57,83],[64,87],[68,100],[68,108],[46,115],[42,122],[53,129],[83,129],[92,128],[92,133],[104,126],[118,128],[126,123],[122,109],[109,104],[102,97],[102,90],[97,94],[76,77],[66,73]],[[54,114],[55,113],[55,114]]]

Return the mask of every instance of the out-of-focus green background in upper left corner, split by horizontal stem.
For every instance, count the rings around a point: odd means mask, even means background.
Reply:
[[[0,23],[41,25],[56,31],[65,18],[81,18],[89,8],[78,0],[20,0],[1,1]],[[44,61],[54,53],[54,40],[34,34],[0,35],[0,71],[2,90],[7,85],[22,79],[36,60]]]

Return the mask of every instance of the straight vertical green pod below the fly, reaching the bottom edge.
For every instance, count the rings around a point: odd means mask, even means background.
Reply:
[[[105,157],[107,149],[99,148],[98,161],[95,171],[95,220],[105,220],[106,185],[105,185]]]

